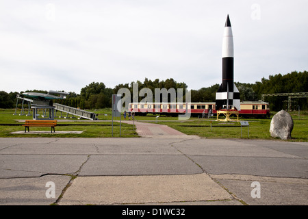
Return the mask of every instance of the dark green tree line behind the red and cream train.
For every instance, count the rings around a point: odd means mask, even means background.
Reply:
[[[262,78],[261,81],[255,83],[240,83],[235,82],[235,85],[240,91],[241,101],[258,101],[261,100],[261,94],[267,93],[292,93],[292,92],[308,92],[308,73],[303,72],[292,72],[286,75],[270,75],[268,79]],[[56,100],[55,103],[68,105],[70,107],[79,107],[80,109],[101,109],[105,107],[111,107],[112,105],[112,94],[118,93],[120,88],[127,88],[133,96],[133,83],[138,84],[138,90],[142,88],[149,88],[155,94],[155,88],[177,88],[183,89],[183,101],[185,101],[185,89],[188,86],[184,82],[177,82],[175,79],[166,80],[151,80],[145,78],[143,82],[132,81],[131,83],[120,83],[114,88],[106,88],[103,82],[92,82],[84,88],[81,88],[80,94],[70,92],[66,99]],[[201,88],[199,90],[191,90],[191,101],[192,102],[214,102],[216,99],[216,91],[220,84],[216,83],[213,86],[207,88]],[[47,93],[44,90],[26,90],[25,92],[42,92]],[[21,92],[22,93],[22,92]],[[16,105],[16,94],[18,92],[7,93],[0,91],[0,108],[14,108]],[[141,101],[144,97],[139,96],[138,101]],[[300,105],[301,110],[307,110],[308,100],[307,98],[292,99],[293,107]],[[131,100],[133,101],[133,100]],[[274,111],[285,110],[287,108],[287,96],[268,96],[265,99],[266,102],[270,103],[270,109]]]

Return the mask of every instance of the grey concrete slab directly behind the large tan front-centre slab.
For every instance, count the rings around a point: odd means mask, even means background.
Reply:
[[[203,170],[184,155],[92,155],[80,176],[183,175]]]

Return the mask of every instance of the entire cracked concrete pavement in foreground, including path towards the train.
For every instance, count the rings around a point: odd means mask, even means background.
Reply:
[[[1,138],[0,205],[308,205],[307,142],[146,126],[146,138]]]

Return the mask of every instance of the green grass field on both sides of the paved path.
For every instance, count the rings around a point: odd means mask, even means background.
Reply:
[[[20,112],[20,111],[19,111]],[[12,134],[13,131],[23,131],[23,123],[17,120],[31,119],[29,116],[13,116],[14,110],[0,110],[0,137],[62,137],[62,138],[110,138],[112,137],[111,110],[94,110],[98,114],[99,121],[76,121],[77,118],[56,118],[59,126],[55,127],[56,132],[53,134]],[[107,116],[105,116],[107,114]],[[273,113],[274,114],[274,113]],[[307,142],[308,133],[308,113],[290,112],[294,121],[294,129],[292,131],[292,140]],[[58,116],[58,115],[57,115]],[[160,116],[156,121],[156,115],[136,116],[136,120],[150,120],[153,123],[168,125],[188,135],[197,135],[202,138],[241,138],[241,127],[238,122],[218,122],[216,118],[196,118],[192,117],[188,120],[178,120],[178,117]],[[119,118],[114,118],[114,137],[120,137]],[[123,120],[123,117],[122,117]],[[127,118],[128,120],[128,118]],[[249,123],[249,139],[267,139],[273,140],[270,136],[270,119],[242,119]],[[5,125],[6,124],[6,125]],[[10,125],[9,125],[10,124]],[[12,126],[18,125],[18,126]],[[65,126],[64,126],[65,125]],[[30,132],[36,130],[50,130],[49,127],[31,127]],[[57,134],[57,131],[83,131],[81,134]],[[121,137],[132,138],[138,137],[132,125],[122,123]],[[242,127],[242,138],[248,139],[248,128]]]

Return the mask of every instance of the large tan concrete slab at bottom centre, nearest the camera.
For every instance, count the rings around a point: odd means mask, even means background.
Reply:
[[[207,174],[77,177],[60,205],[113,205],[232,200]]]

